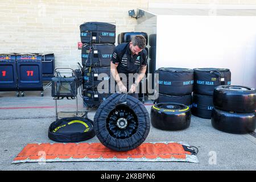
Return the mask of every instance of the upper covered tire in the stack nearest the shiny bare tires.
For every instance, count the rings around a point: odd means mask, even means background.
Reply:
[[[231,72],[226,68],[195,68],[193,92],[213,96],[216,86],[230,85]]]

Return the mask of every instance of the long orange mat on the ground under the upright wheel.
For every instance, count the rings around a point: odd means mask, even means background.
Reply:
[[[131,151],[117,152],[101,143],[31,143],[16,156],[13,163],[130,161],[130,162],[193,162],[195,155],[185,151],[188,144],[175,142],[143,143]]]

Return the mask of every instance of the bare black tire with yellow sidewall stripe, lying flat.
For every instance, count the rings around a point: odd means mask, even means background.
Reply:
[[[188,106],[172,102],[158,103],[151,107],[152,126],[160,130],[184,130],[191,123],[191,110]]]

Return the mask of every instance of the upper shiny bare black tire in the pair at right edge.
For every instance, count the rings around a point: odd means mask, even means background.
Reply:
[[[256,90],[248,86],[217,86],[213,91],[213,104],[220,110],[253,113],[256,110]]]

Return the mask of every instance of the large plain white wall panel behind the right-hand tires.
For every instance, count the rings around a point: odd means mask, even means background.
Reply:
[[[156,69],[229,68],[256,87],[256,16],[158,15]]]

